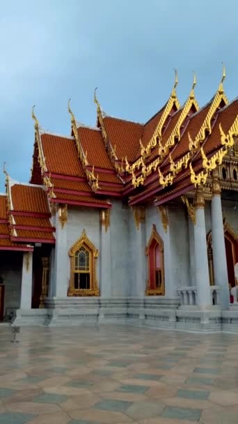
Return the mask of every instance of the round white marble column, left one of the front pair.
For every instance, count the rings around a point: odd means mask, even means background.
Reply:
[[[211,303],[209,268],[207,259],[207,239],[205,227],[203,190],[196,190],[196,224],[194,225],[194,255],[195,255],[195,280],[198,291],[198,306],[208,309]]]

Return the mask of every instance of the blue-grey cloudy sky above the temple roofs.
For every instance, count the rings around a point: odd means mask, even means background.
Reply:
[[[177,68],[180,102],[196,71],[207,103],[225,63],[225,91],[238,93],[237,0],[0,0],[0,167],[29,181],[35,106],[42,128],[69,135],[68,98],[94,125],[104,111],[145,122],[166,102]],[[0,191],[4,189],[0,170]]]

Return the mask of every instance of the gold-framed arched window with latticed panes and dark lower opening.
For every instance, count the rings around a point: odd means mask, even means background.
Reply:
[[[85,230],[70,249],[69,255],[71,272],[68,296],[99,296],[95,264],[98,250],[86,236]]]

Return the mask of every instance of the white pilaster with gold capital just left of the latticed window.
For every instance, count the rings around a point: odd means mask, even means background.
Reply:
[[[59,206],[56,212],[56,247],[55,247],[55,296],[67,297],[68,292],[68,245],[67,245],[67,207]]]

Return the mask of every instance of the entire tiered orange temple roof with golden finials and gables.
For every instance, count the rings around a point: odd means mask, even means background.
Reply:
[[[238,134],[238,100],[228,103],[224,78],[225,71],[216,94],[200,109],[195,76],[180,106],[176,73],[168,101],[145,124],[104,114],[96,93],[97,126],[78,123],[69,103],[70,136],[42,130],[33,112],[31,184],[7,178],[7,196],[0,196],[0,245],[54,243],[52,203],[110,209],[111,199],[121,198],[130,205],[159,205],[205,183]]]

